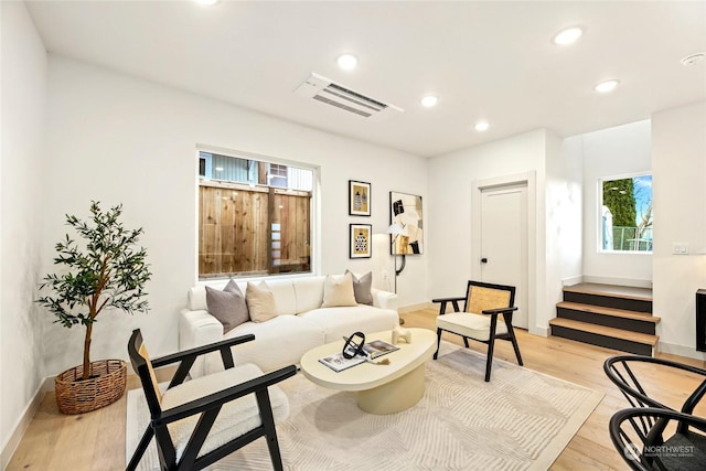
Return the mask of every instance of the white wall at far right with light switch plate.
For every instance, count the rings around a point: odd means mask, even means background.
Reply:
[[[706,360],[695,350],[695,292],[706,288],[706,101],[652,116],[654,313],[662,351]],[[687,243],[691,255],[672,255]]]

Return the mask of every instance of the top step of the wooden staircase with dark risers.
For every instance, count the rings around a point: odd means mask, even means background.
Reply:
[[[564,301],[652,313],[652,290],[649,288],[580,283],[564,287]]]

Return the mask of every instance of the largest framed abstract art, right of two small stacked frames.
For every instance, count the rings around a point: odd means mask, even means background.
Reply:
[[[391,235],[392,255],[419,255],[424,253],[424,220],[421,196],[389,192],[389,220],[395,234]]]

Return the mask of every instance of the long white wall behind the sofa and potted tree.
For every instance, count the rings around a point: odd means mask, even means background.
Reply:
[[[149,314],[104,313],[94,329],[93,357],[126,357],[140,327],[153,354],[178,349],[178,315],[196,282],[196,144],[318,165],[321,173],[320,267],[362,272],[378,257],[349,259],[349,224],[389,225],[388,192],[427,196],[426,160],[50,55],[50,178],[44,213],[43,269],[65,233],[64,214],[87,214],[90,200],[124,204],[127,227],[142,226],[153,279]],[[347,180],[372,184],[372,216],[347,215]],[[376,247],[374,247],[376,248]],[[398,282],[400,304],[427,299],[427,255],[408,257]],[[382,274],[374,274],[374,279]],[[376,282],[379,283],[379,280]],[[83,331],[50,325],[46,374],[81,362]]]

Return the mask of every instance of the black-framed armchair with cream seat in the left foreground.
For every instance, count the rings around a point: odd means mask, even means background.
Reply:
[[[231,346],[255,340],[243,335],[150,361],[137,329],[128,354],[140,377],[150,424],[127,465],[135,470],[152,437],[161,470],[200,470],[265,437],[276,470],[282,469],[275,424],[289,415],[289,402],[275,384],[293,376],[295,365],[263,374],[253,364],[234,366]],[[197,356],[221,352],[224,372],[184,382]],[[162,393],[157,367],[178,363]]]

